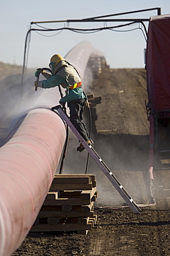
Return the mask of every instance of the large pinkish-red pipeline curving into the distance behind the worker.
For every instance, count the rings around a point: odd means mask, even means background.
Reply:
[[[92,45],[83,42],[65,56],[82,79],[92,51]],[[59,104],[58,89],[41,89],[37,95],[32,110],[19,119],[14,135],[0,149],[0,256],[11,255],[28,235],[65,143],[65,125],[50,111]]]

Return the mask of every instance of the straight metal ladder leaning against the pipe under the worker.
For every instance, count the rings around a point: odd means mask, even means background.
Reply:
[[[125,188],[123,188],[123,185],[120,184],[120,182],[118,181],[118,179],[116,179],[116,176],[114,176],[114,174],[111,172],[111,170],[109,170],[109,167],[107,167],[107,165],[104,163],[104,161],[100,158],[100,156],[98,156],[98,154],[96,153],[96,151],[94,150],[94,148],[92,147],[92,145],[88,145],[86,143],[86,141],[84,140],[84,138],[81,136],[81,134],[79,134],[79,132],[77,131],[77,129],[74,127],[74,125],[72,125],[72,122],[70,121],[69,117],[67,116],[67,114],[63,111],[63,109],[61,108],[61,105],[52,107],[52,111],[54,111],[55,113],[59,113],[59,116],[61,116],[61,118],[67,123],[67,125],[70,127],[70,129],[72,130],[72,132],[75,134],[75,136],[78,138],[78,140],[80,141],[80,143],[83,144],[83,146],[85,147],[85,149],[87,150],[87,152],[90,154],[90,156],[92,156],[92,158],[94,159],[94,161],[97,163],[97,165],[100,167],[100,169],[104,172],[104,174],[107,176],[107,179],[109,179],[109,181],[112,183],[112,185],[114,185],[114,188],[116,188],[116,190],[119,192],[120,196],[123,197],[123,199],[125,200],[125,202],[127,203],[127,205],[129,205],[129,207],[131,208],[131,210],[133,210],[133,212],[135,214],[140,214],[140,212],[142,211],[138,205],[136,205],[136,203],[134,202],[134,200],[131,198],[131,196],[129,196],[129,194],[127,193],[127,191],[125,190]]]

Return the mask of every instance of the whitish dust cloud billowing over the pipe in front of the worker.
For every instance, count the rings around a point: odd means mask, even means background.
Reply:
[[[34,70],[29,70],[21,84],[21,73],[0,81],[0,146],[11,138],[19,120],[35,108],[51,109],[59,104],[58,89],[34,89]]]

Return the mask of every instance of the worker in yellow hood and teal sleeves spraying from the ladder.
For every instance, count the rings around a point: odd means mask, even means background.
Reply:
[[[43,68],[37,68],[35,76],[39,77],[40,73],[42,73],[46,80],[36,81],[34,85],[47,89],[61,84],[61,86],[66,89],[65,96],[61,98],[59,103],[62,107],[65,107],[65,102],[67,102],[67,107],[70,108],[70,121],[87,144],[92,145],[93,141],[89,138],[85,124],[82,121],[87,98],[81,87],[80,75],[78,75],[76,68],[59,54],[55,54],[51,57],[49,66],[52,72],[51,75],[44,73]],[[82,152],[84,149],[85,147],[82,143],[77,147],[78,152]]]

